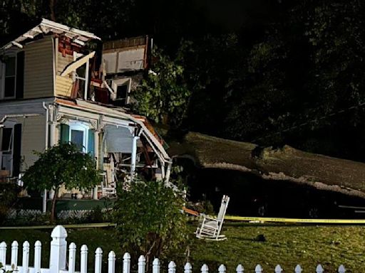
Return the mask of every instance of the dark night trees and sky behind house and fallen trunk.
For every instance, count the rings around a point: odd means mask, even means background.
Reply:
[[[147,34],[183,55],[192,95],[175,134],[364,161],[364,14],[355,0],[8,0],[0,42],[42,17],[104,41]]]

